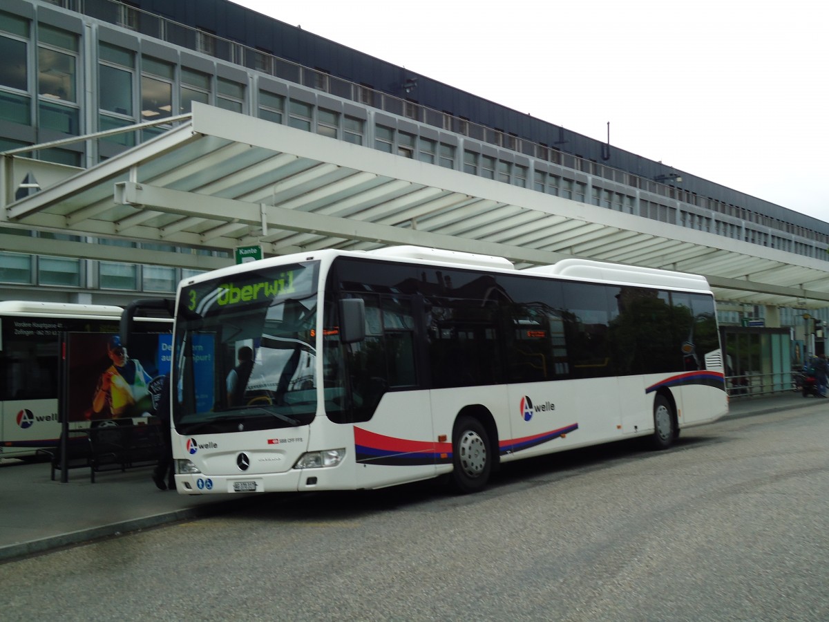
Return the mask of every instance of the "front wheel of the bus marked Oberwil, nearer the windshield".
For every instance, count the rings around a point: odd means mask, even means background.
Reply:
[[[480,421],[463,416],[455,423],[452,435],[452,474],[450,481],[459,493],[477,493],[486,488],[492,472],[489,435]]]

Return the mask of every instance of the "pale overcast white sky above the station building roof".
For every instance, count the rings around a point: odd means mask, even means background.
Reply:
[[[829,2],[234,1],[829,221]]]

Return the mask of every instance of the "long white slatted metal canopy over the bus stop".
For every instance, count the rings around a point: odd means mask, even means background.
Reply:
[[[704,275],[718,299],[739,304],[806,309],[829,302],[827,261],[204,104],[193,104],[191,119],[166,134],[7,202],[5,220],[218,250],[261,244],[265,255],[413,244],[499,255],[519,266],[579,256]],[[181,254],[136,257],[182,265]],[[199,260],[217,267],[217,260]]]

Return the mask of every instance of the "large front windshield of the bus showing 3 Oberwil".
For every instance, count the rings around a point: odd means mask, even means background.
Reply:
[[[180,434],[313,420],[318,269],[309,261],[182,288],[172,371]]]

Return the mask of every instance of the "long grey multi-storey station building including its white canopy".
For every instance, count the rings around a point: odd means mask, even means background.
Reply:
[[[759,391],[823,350],[829,223],[232,2],[4,0],[0,52],[0,299],[416,244],[704,275]]]

